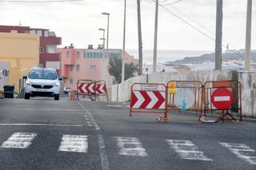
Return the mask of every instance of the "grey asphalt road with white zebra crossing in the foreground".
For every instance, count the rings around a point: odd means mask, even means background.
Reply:
[[[128,105],[0,100],[0,169],[256,169],[256,122],[157,122]]]

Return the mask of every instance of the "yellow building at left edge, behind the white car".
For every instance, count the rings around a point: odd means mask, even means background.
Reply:
[[[39,65],[38,34],[0,33],[0,61],[10,62],[9,85],[18,90],[19,79]]]

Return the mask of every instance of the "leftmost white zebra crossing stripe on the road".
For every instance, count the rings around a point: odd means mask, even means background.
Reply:
[[[36,133],[30,132],[14,132],[12,136],[2,143],[2,148],[28,148],[32,144],[32,140],[37,136]]]

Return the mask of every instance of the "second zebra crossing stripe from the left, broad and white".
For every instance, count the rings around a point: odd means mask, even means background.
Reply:
[[[58,151],[63,152],[87,152],[88,140],[87,136],[63,135],[62,143]]]

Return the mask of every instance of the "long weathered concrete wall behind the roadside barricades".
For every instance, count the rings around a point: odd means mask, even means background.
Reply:
[[[238,73],[237,71],[197,71],[187,73],[154,73],[148,75],[149,83],[162,83],[168,81],[225,81],[238,80],[242,83],[242,113],[246,117],[256,117],[256,72]],[[130,87],[134,83],[145,83],[146,75],[133,77],[123,84],[108,88],[110,101],[129,101]]]

